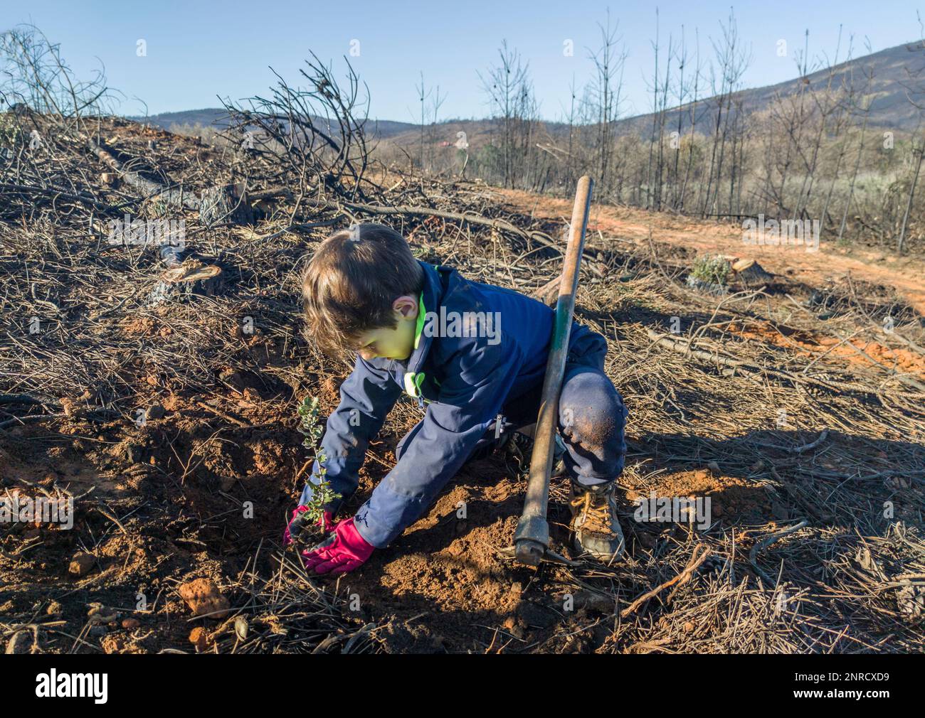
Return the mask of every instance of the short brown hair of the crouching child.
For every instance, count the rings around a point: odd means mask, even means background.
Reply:
[[[386,225],[351,225],[327,237],[302,277],[307,334],[331,354],[357,350],[360,335],[396,325],[392,302],[417,297],[424,270]]]

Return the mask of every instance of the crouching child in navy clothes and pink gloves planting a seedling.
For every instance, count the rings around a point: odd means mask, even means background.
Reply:
[[[359,355],[321,442],[327,481],[340,498],[319,520],[327,539],[302,552],[307,569],[339,574],[394,541],[476,450],[536,422],[554,312],[511,289],[418,262],[385,225],[353,225],[328,237],[309,262],[302,291],[318,346]],[[573,323],[559,432],[572,480],[575,545],[611,562],[623,554],[614,480],[623,471],[627,411],[603,371],[606,352],[601,335]],[[401,439],[394,469],[369,500],[334,523],[356,491],[370,439],[402,391],[418,400],[424,418]],[[285,543],[312,528],[302,519],[312,492],[309,481]]]

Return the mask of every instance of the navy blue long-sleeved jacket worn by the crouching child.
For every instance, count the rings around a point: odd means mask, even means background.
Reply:
[[[369,440],[402,391],[426,407],[401,459],[356,513],[360,534],[379,548],[431,505],[504,404],[542,383],[549,355],[554,311],[545,304],[468,281],[450,267],[420,263],[425,285],[411,356],[370,361],[357,356],[321,441],[327,481],[341,494],[328,506],[336,512],[356,491]],[[483,319],[481,331],[474,331]],[[573,323],[570,348],[591,336],[600,338]],[[300,503],[311,495],[309,483]]]

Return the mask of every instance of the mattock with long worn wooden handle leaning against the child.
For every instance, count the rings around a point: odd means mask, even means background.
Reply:
[[[538,566],[539,562],[544,560],[574,565],[567,558],[549,551],[549,522],[546,520],[546,509],[549,505],[549,474],[552,472],[554,437],[559,424],[559,393],[565,373],[565,358],[569,351],[569,336],[572,334],[578,265],[585,249],[585,231],[593,185],[591,177],[586,175],[578,180],[578,188],[575,190],[569,243],[565,248],[565,266],[562,268],[559,298],[556,301],[556,320],[549,346],[549,359],[546,362],[539,417],[536,420],[533,455],[530,456],[530,476],[527,480],[524,513],[521,514],[517,530],[514,532],[513,557],[527,566]],[[507,553],[511,554],[510,549]]]

